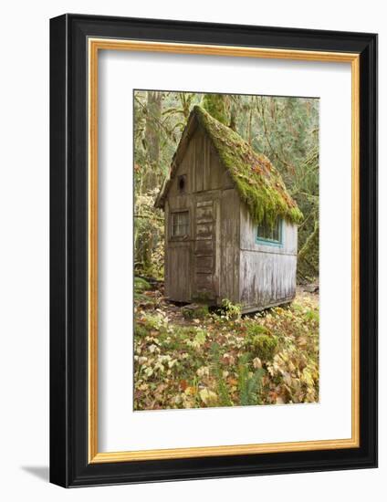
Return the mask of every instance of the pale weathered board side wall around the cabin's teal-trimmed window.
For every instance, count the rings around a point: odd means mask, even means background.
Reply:
[[[240,211],[239,295],[245,311],[286,302],[296,295],[296,225],[282,222],[282,246],[256,243],[246,205]]]

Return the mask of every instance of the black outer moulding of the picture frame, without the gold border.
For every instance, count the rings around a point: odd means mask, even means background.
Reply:
[[[360,55],[360,447],[89,464],[88,37]],[[67,14],[50,20],[50,67],[50,481],[95,486],[377,466],[377,36]]]

